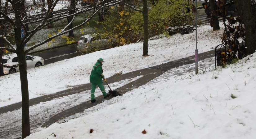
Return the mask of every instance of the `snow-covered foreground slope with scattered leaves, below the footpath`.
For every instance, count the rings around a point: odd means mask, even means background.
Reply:
[[[26,139],[255,139],[256,53],[210,70],[183,79],[170,70],[95,106],[98,111],[38,128]]]

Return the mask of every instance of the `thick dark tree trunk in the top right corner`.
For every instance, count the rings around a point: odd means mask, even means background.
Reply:
[[[234,0],[238,14],[245,25],[247,54],[256,50],[256,3],[251,0]]]

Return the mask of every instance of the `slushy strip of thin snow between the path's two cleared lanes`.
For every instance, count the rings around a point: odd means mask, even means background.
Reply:
[[[110,83],[109,85],[112,89],[119,88],[130,82],[141,78],[142,76],[137,76],[135,78],[125,79],[119,82]],[[107,86],[104,86],[107,88]],[[95,97],[102,96],[100,89],[97,87],[95,91]],[[47,102],[41,102],[39,104],[29,107],[30,115],[30,129],[31,132],[35,132],[35,129],[44,126],[44,123],[49,120],[52,116],[65,111],[71,107],[89,101],[91,99],[91,91],[82,91],[77,94],[67,95],[64,97],[59,97],[52,99]],[[2,113],[0,115],[0,138],[1,139],[13,139],[21,136],[22,119],[20,116],[21,108]],[[67,118],[63,120],[68,120]]]

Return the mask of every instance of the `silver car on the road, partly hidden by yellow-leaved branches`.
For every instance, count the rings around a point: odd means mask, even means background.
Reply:
[[[91,52],[111,48],[111,46],[115,45],[115,39],[88,34],[80,37],[77,44],[77,48],[80,51]]]

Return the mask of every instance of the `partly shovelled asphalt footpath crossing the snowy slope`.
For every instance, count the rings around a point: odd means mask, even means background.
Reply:
[[[199,60],[203,60],[203,59],[209,58],[209,57],[214,57],[214,51],[209,51],[209,52],[199,54]],[[146,84],[147,82],[153,80],[154,78],[160,76],[161,74],[163,74],[164,72],[166,72],[172,68],[176,68],[181,65],[191,64],[194,62],[195,62],[194,56],[186,57],[186,58],[182,58],[182,59],[179,59],[176,61],[171,61],[171,62],[164,63],[161,65],[149,67],[146,69],[133,71],[133,72],[130,72],[127,74],[122,74],[119,76],[112,76],[110,78],[107,78],[107,80],[109,83],[114,83],[114,82],[123,81],[124,79],[129,79],[129,78],[134,78],[134,77],[137,77],[140,75],[144,75],[143,77],[116,89],[121,94],[124,94],[128,91],[131,91],[139,86]],[[30,99],[29,100],[29,104],[30,104],[29,109],[33,110],[33,108],[35,108],[33,106],[35,106],[36,104],[39,104],[39,103],[43,104],[44,102],[47,103],[47,101],[51,101],[51,100],[56,101],[57,99],[61,99],[65,96],[70,98],[72,95],[77,95],[76,97],[79,97],[79,95],[83,95],[83,93],[81,94],[80,92],[83,92],[86,90],[89,91],[90,86],[91,86],[90,84],[74,86],[72,89],[57,92],[57,93],[51,94],[51,95],[46,95],[46,96]],[[85,94],[85,95],[89,95],[89,94]],[[111,96],[108,99],[111,99],[111,98],[113,98],[113,96]],[[102,96],[97,97],[96,99],[97,99],[96,103],[90,103],[89,101],[87,101],[87,102],[82,101],[80,104],[74,105],[71,108],[68,107],[65,110],[54,109],[54,111],[55,111],[54,114],[53,115],[51,114],[50,117],[48,117],[48,118],[45,118],[43,115],[40,116],[39,114],[33,115],[33,113],[32,113],[32,115],[30,115],[31,129],[33,130],[33,129],[36,129],[41,126],[47,127],[60,119],[72,116],[76,113],[83,112],[85,109],[95,106],[95,105],[99,104],[100,102],[104,101]],[[60,104],[60,106],[61,105],[65,105],[65,104]],[[16,103],[16,104],[12,104],[12,105],[9,105],[6,107],[1,107],[0,108],[1,117],[2,118],[3,117],[11,118],[12,116],[15,116],[14,114],[17,114],[17,112],[21,112],[20,108],[21,108],[21,103]],[[1,123],[0,138],[17,138],[21,135],[20,134],[21,126],[20,126],[20,124],[16,124],[21,121],[21,117],[19,117],[20,114],[19,115],[18,114],[16,115],[16,116],[18,116],[18,118],[13,117],[10,120],[5,120],[5,122]]]

